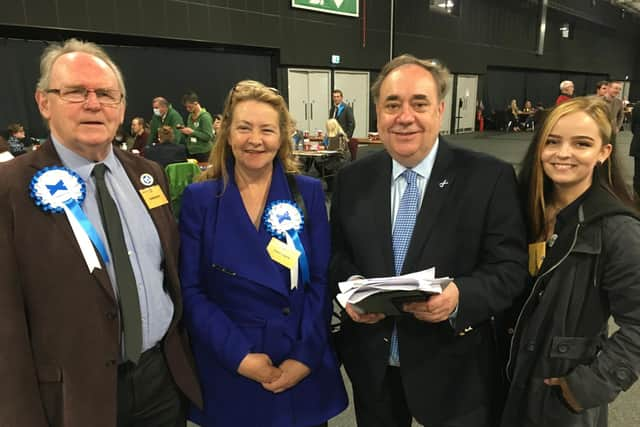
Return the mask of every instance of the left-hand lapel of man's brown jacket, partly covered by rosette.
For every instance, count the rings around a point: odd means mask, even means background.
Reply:
[[[58,153],[53,146],[51,141],[47,141],[38,151],[36,151],[32,157],[31,167],[33,167],[35,174],[40,169],[43,169],[47,166],[63,166],[60,157],[58,157]],[[75,256],[80,259],[81,268],[86,269],[86,264],[83,259],[82,251],[80,250],[80,246],[76,240],[75,235],[73,234],[73,230],[71,229],[71,225],[69,225],[69,220],[67,220],[67,216],[63,213],[59,214],[44,214],[43,215],[51,215],[53,217],[53,222],[56,227],[56,231],[53,233],[60,235],[63,239],[68,242],[67,247],[75,252]],[[111,299],[115,302],[116,298],[113,293],[113,288],[111,286],[111,281],[109,280],[109,275],[107,274],[106,267],[104,262],[100,256],[98,256],[100,260],[100,269],[94,269],[91,276],[93,276],[100,287],[111,297]],[[88,270],[87,270],[88,272]]]

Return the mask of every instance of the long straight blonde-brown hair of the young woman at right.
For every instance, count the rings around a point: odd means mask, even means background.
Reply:
[[[529,237],[532,240],[544,239],[550,231],[545,221],[547,203],[553,189],[551,179],[546,176],[542,167],[542,150],[549,138],[549,134],[558,121],[569,114],[583,112],[598,126],[602,146],[611,144],[609,157],[599,166],[594,174],[600,185],[609,190],[625,204],[632,206],[633,202],[622,179],[620,167],[616,160],[615,130],[609,117],[609,106],[597,97],[579,97],[566,101],[554,107],[538,126],[531,145],[522,161],[520,172],[521,194],[523,195],[524,210],[529,225]],[[597,177],[597,178],[596,178]]]

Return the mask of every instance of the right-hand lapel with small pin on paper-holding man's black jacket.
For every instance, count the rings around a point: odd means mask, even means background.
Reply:
[[[440,211],[455,185],[456,168],[453,166],[451,147],[440,138],[436,161],[425,189],[422,206],[418,212],[413,236],[405,256],[403,273],[411,270],[410,266],[417,265],[419,258],[425,252],[424,247],[429,241],[438,218],[440,218]]]

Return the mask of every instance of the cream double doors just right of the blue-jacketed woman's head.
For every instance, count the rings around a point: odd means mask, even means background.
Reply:
[[[331,105],[328,70],[289,69],[289,112],[302,131],[323,129]]]

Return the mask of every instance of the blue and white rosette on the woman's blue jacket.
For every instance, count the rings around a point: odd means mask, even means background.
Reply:
[[[298,267],[302,273],[302,283],[309,283],[309,261],[302,246],[299,233],[302,232],[304,217],[302,211],[291,200],[275,200],[267,206],[264,213],[264,223],[272,236],[284,238],[287,246],[300,253],[298,263],[290,270],[291,289],[298,287]]]

